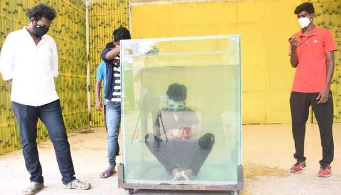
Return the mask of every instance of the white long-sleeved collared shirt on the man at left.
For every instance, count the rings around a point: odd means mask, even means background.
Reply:
[[[36,45],[26,27],[8,34],[0,53],[0,72],[4,80],[13,79],[11,101],[41,106],[59,99],[54,80],[57,45],[49,35]]]

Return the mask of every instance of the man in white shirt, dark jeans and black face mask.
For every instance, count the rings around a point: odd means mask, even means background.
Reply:
[[[55,40],[46,35],[56,17],[53,8],[39,4],[27,11],[28,26],[10,33],[2,46],[0,72],[12,83],[11,101],[17,118],[22,151],[31,186],[24,195],[34,195],[44,187],[37,149],[38,118],[48,129],[54,145],[65,189],[86,190],[90,183],[76,179],[54,77],[58,76]]]

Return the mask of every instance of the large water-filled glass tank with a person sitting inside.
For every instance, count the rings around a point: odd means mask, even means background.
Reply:
[[[239,36],[123,40],[125,183],[236,185]]]

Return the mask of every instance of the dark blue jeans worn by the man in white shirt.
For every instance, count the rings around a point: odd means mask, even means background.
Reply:
[[[49,132],[63,184],[75,180],[75,170],[59,100],[38,107],[13,101],[12,108],[19,124],[22,152],[26,169],[31,175],[30,180],[44,182],[36,142],[38,118],[45,124]]]

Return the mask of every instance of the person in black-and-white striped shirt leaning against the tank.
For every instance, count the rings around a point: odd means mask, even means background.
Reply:
[[[101,178],[107,178],[116,173],[116,150],[117,137],[119,132],[119,123],[121,121],[121,69],[119,57],[119,41],[131,39],[130,32],[125,27],[119,27],[114,30],[114,47],[105,48],[102,51],[101,58],[106,63],[107,80],[104,89],[104,98],[106,104],[106,124],[108,129],[108,160],[109,167],[101,174]]]

